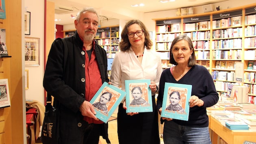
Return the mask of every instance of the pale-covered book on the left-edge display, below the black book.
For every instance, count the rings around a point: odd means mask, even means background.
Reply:
[[[11,106],[8,79],[0,79],[0,108]]]

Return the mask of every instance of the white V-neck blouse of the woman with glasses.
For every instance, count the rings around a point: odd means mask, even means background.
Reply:
[[[121,87],[123,91],[125,91],[125,80],[150,79],[159,87],[162,71],[160,56],[155,51],[145,47],[140,64],[139,59],[130,48],[128,51],[120,51],[115,54],[110,81],[111,85]]]

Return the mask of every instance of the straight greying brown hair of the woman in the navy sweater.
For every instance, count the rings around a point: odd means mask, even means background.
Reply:
[[[188,63],[188,66],[191,67],[191,66],[195,66],[196,64],[196,59],[195,59],[195,50],[193,49],[193,43],[191,41],[191,39],[188,37],[188,36],[184,36],[184,35],[181,35],[181,36],[177,36],[176,38],[174,38],[174,40],[172,41],[172,44],[171,44],[171,49],[170,49],[170,60],[169,62],[171,64],[174,64],[174,65],[178,65],[178,63],[174,60],[174,56],[172,54],[172,48],[174,47],[174,44],[176,44],[178,41],[180,40],[186,40],[189,44],[189,49],[193,51],[193,53],[191,54],[191,57],[189,59],[189,63]]]

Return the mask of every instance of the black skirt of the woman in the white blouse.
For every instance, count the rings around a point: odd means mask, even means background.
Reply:
[[[119,144],[160,144],[158,111],[152,96],[153,112],[140,112],[127,115],[123,104],[117,114],[117,133]]]

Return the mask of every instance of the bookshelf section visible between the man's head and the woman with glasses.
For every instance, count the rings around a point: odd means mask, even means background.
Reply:
[[[114,58],[119,51],[119,26],[98,28],[95,41],[106,50],[108,58]]]

